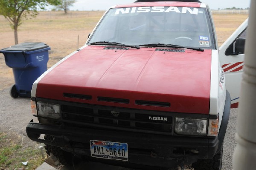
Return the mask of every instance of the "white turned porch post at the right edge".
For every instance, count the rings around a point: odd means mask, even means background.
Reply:
[[[234,170],[256,169],[256,0],[251,0],[237,122]],[[238,89],[239,90],[239,89]]]

